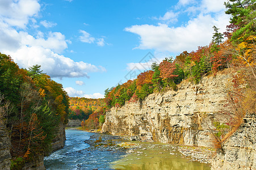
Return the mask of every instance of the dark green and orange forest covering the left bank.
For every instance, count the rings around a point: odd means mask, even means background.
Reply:
[[[0,53],[0,124],[11,139],[11,169],[48,155],[60,123],[68,122],[69,97],[39,65],[19,69]]]

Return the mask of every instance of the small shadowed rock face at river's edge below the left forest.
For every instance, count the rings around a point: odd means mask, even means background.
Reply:
[[[60,122],[60,124],[58,125],[58,129],[56,131],[56,137],[53,139],[53,142],[52,142],[52,150],[56,151],[64,147],[65,141],[66,141],[65,125],[62,122]]]

